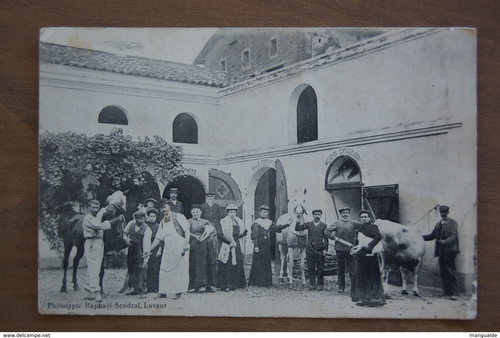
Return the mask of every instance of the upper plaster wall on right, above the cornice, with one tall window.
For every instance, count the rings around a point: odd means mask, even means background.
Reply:
[[[455,122],[475,112],[469,33],[442,30],[223,96],[225,125],[217,141],[230,142],[225,153],[296,142],[288,136],[296,128],[288,105],[303,83],[316,92],[318,141],[299,146]]]

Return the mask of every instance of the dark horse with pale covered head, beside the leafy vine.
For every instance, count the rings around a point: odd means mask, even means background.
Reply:
[[[122,215],[126,211],[126,193],[120,190],[113,192],[107,197],[106,212],[102,217],[102,220],[109,220],[111,224],[111,229],[105,230],[103,234],[104,241],[104,254],[109,251],[119,251],[126,247],[122,239],[123,227],[125,224],[125,217]],[[76,281],[76,269],[78,268],[78,263],[84,253],[84,243],[85,237],[83,236],[83,218],[85,215],[75,215],[71,217],[67,222],[63,223],[59,229],[59,236],[62,237],[64,243],[64,260],[62,265],[64,267],[64,277],[62,278],[61,292],[66,292],[66,277],[67,277],[67,267],[69,264],[69,253],[76,246],[76,255],[73,259],[73,290],[78,291],[78,283]],[[100,293],[102,297],[105,297],[105,292],[102,287],[102,278],[104,277],[104,259],[101,262],[100,273],[99,273],[99,285]]]

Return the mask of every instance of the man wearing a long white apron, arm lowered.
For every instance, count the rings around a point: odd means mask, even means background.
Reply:
[[[189,286],[189,222],[183,214],[172,212],[166,198],[158,201],[158,207],[163,214],[158,231],[149,253],[161,240],[165,245],[159,270],[158,296],[166,297],[172,294],[172,299],[180,298],[182,292]]]

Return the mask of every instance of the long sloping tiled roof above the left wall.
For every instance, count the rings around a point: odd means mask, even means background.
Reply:
[[[40,62],[159,78],[168,81],[225,87],[248,77],[191,64],[40,42]]]

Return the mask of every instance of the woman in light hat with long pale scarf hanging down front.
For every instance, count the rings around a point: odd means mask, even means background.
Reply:
[[[241,218],[236,216],[238,206],[228,204],[225,209],[227,216],[220,220],[220,230],[217,231],[217,238],[222,240],[222,244],[217,257],[217,284],[215,286],[228,292],[246,287],[239,239],[244,237],[247,231]]]

